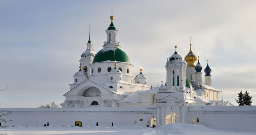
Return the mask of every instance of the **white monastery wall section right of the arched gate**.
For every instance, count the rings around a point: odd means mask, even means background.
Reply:
[[[256,131],[256,106],[205,106],[188,111],[186,123],[199,123],[212,129]]]

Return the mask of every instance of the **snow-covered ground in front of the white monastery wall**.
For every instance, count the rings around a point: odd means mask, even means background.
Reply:
[[[209,129],[204,125],[175,123],[156,128],[144,126],[2,127],[0,135],[255,135],[256,132]]]

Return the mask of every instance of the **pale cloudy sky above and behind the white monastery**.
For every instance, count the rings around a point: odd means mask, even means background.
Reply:
[[[0,0],[0,92],[2,108],[36,108],[69,91],[86,50],[107,40],[114,8],[117,41],[148,85],[166,81],[166,59],[192,51],[212,69],[219,99],[234,105],[247,90],[256,105],[255,0]],[[203,75],[205,75],[203,73]],[[204,80],[204,79],[203,79]]]

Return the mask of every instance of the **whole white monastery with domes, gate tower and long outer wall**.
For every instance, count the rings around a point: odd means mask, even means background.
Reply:
[[[165,85],[148,86],[142,69],[133,76],[133,65],[117,42],[114,16],[110,19],[107,41],[98,53],[94,52],[89,36],[86,51],[79,60],[80,69],[73,76],[74,83],[64,93],[62,108],[6,109],[12,112],[7,117],[13,119],[7,125],[38,125],[41,121],[51,125],[82,121],[83,125],[113,122],[148,127],[200,123],[213,129],[256,131],[256,106],[234,106],[219,100],[221,91],[212,87],[211,69],[207,64],[202,73],[203,67],[191,50],[192,44],[185,58],[176,52],[176,46],[174,54],[166,56]],[[31,121],[32,117],[37,121]],[[62,123],[54,119],[61,119]]]

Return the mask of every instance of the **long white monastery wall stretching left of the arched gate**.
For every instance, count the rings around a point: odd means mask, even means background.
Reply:
[[[106,108],[105,108],[106,109]],[[122,110],[123,109],[123,110]],[[11,122],[2,122],[2,126],[43,126],[49,122],[52,126],[74,126],[75,121],[81,121],[83,126],[114,125],[150,125],[152,117],[156,117],[156,110],[146,108],[59,108],[59,109],[5,109],[12,114],[4,117]],[[110,111],[112,110],[112,111]],[[135,122],[136,121],[136,122]]]

